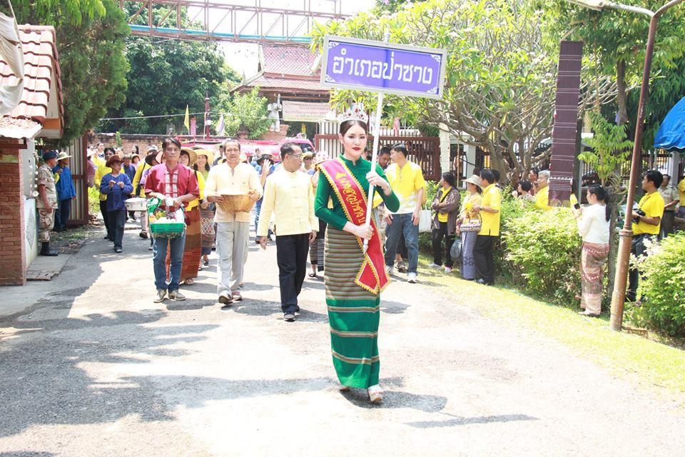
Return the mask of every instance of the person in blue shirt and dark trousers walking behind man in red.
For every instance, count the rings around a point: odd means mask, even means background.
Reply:
[[[123,241],[123,224],[126,223],[126,204],[133,192],[133,184],[125,173],[121,172],[121,159],[116,154],[111,156],[105,166],[111,173],[102,177],[100,191],[107,196],[107,219],[114,238],[114,252],[121,252]]]

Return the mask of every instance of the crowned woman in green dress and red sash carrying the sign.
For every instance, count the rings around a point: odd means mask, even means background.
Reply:
[[[318,165],[315,200],[316,216],[328,224],[324,281],[333,366],[341,390],[365,388],[370,401],[377,403],[383,394],[378,383],[380,291],[388,280],[375,223],[365,223],[367,202],[373,201],[366,193],[373,184],[390,211],[397,211],[400,201],[380,166],[372,169],[371,162],[362,159],[367,143],[365,121],[343,121],[340,141],[342,156]],[[365,239],[369,240],[366,252]]]

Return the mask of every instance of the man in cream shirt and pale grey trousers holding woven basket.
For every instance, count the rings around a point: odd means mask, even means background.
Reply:
[[[243,259],[250,235],[250,213],[230,213],[221,208],[221,194],[250,195],[253,201],[262,196],[262,185],[257,172],[250,164],[240,162],[240,144],[235,140],[224,143],[226,161],[213,166],[205,184],[207,201],[215,202],[216,253],[218,261],[219,303],[228,305],[243,297],[238,291],[243,281]]]

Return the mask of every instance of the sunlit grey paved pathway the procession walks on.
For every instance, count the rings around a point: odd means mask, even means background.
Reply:
[[[123,255],[93,238],[49,289],[27,286],[45,296],[0,319],[0,456],[684,455],[680,403],[428,278],[383,296],[382,405],[339,393],[323,282],[286,323],[273,243],[250,243],[247,269],[228,310],[214,259],[188,301],[155,304],[127,232]]]

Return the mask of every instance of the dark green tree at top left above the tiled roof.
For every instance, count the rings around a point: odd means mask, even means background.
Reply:
[[[18,24],[55,27],[66,144],[123,102],[130,29],[113,0],[19,0],[12,6]]]

